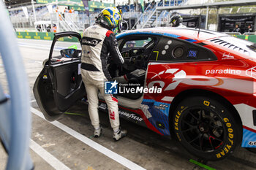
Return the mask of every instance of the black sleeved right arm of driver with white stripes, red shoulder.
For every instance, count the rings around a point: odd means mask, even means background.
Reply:
[[[114,63],[116,63],[119,66],[124,64],[124,58],[121,56],[121,53],[118,49],[116,36],[115,34],[113,34],[112,31],[107,32],[105,41],[110,52],[110,58],[113,59]]]

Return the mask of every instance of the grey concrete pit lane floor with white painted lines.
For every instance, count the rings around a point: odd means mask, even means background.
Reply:
[[[42,61],[48,58],[50,41],[18,39],[20,53],[23,55],[23,61],[26,66],[26,72],[29,77],[31,88],[31,107],[39,110],[34,101],[32,87],[37,75],[42,69]],[[61,46],[71,46],[73,44],[61,42]],[[0,70],[1,85],[7,89],[7,82],[4,77],[4,70]],[[33,110],[32,110],[33,111]],[[147,128],[140,127],[126,120],[121,120],[122,128],[128,130],[128,136],[121,139],[120,142],[113,142],[112,130],[105,112],[99,112],[102,123],[103,133],[98,139],[92,137],[93,128],[91,126],[87,107],[82,102],[78,102],[69,112],[81,113],[78,115],[64,115],[58,122],[49,123],[42,117],[32,112],[32,133],[31,140],[33,144],[38,144],[45,152],[50,154],[49,158],[56,158],[59,165],[66,166],[68,169],[129,169],[132,163],[143,169],[200,169],[189,162],[189,159],[195,159],[186,150],[184,150],[174,139],[168,139]],[[58,124],[59,123],[59,124]],[[67,133],[64,128],[71,128],[73,131]],[[110,155],[104,155],[102,152],[85,144],[85,140],[75,136],[86,136],[93,142],[97,142],[104,147],[118,154],[118,158],[111,158]],[[34,146],[34,145],[33,145]],[[35,150],[31,145],[31,157],[34,161],[35,169],[61,169],[53,166],[50,159],[44,160],[44,156]],[[36,152],[34,152],[34,150]],[[118,163],[120,158],[126,158],[132,163],[125,166],[125,163]],[[0,147],[0,170],[4,169],[7,161],[7,155],[4,149]],[[62,164],[61,164],[62,163]],[[129,164],[129,163],[128,163]],[[208,162],[208,166],[214,169],[256,169],[256,154],[238,147],[236,152],[229,158],[218,161]],[[55,168],[54,168],[55,167]],[[132,169],[132,168],[130,168]]]

